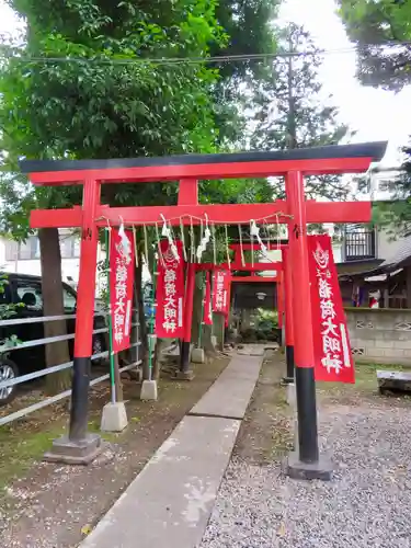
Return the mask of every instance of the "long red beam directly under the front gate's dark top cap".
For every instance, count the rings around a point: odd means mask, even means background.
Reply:
[[[30,173],[36,185],[82,184],[85,179],[101,183],[137,183],[181,181],[182,179],[232,179],[282,176],[289,171],[304,175],[361,173],[367,171],[374,158],[319,158],[306,160],[271,160],[253,162],[197,163],[109,168]]]

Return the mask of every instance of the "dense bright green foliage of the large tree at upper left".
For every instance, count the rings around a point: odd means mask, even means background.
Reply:
[[[158,1],[147,9],[140,2],[103,0],[10,4],[25,18],[27,31],[23,48],[3,45],[10,57],[1,75],[5,169],[15,171],[21,156],[124,158],[214,150],[209,89],[217,70],[144,61],[201,58],[209,44],[222,46],[214,2]],[[10,185],[4,191],[13,197]],[[134,186],[133,202],[151,196],[161,203],[162,189],[153,191]],[[122,202],[117,193],[107,201]],[[129,187],[121,193],[123,201],[132,198]],[[72,190],[57,195],[46,190],[35,197],[49,207],[80,199]]]

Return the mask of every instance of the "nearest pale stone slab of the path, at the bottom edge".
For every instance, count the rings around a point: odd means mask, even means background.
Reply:
[[[80,548],[199,546],[239,427],[183,419]]]

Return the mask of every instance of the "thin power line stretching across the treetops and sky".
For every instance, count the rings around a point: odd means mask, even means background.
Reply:
[[[91,64],[91,65],[198,65],[198,64],[224,64],[232,61],[264,61],[278,58],[290,57],[315,57],[322,55],[343,55],[350,53],[364,53],[373,47],[399,47],[411,46],[411,42],[387,42],[385,44],[366,44],[362,46],[353,46],[338,49],[318,49],[312,52],[282,52],[272,54],[238,54],[238,55],[220,55],[210,57],[128,57],[128,58],[92,58],[92,57],[42,57],[42,56],[26,56],[0,53],[0,60],[15,59],[22,62],[41,62],[41,64]]]

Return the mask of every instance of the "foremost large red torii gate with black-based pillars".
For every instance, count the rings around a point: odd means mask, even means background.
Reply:
[[[307,222],[367,222],[370,203],[316,203],[305,199],[304,176],[359,173],[379,161],[386,142],[329,146],[273,152],[222,155],[187,155],[167,158],[123,160],[23,160],[21,169],[36,185],[83,185],[82,207],[35,210],[32,228],[80,227],[81,256],[78,286],[73,379],[69,435],[55,441],[56,459],[87,463],[101,449],[98,435],[87,432],[90,384],[90,356],[93,330],[94,287],[99,227],[125,224],[153,225],[160,215],[180,224],[183,217],[205,218],[214,224],[248,224],[278,215],[276,221],[289,228],[288,266],[292,264],[293,310],[298,316],[295,365],[298,411],[299,454],[290,457],[290,475],[316,476],[319,468],[316,387],[313,376],[310,292],[307,254]],[[229,178],[285,176],[286,201],[272,204],[199,205],[198,180]],[[179,181],[176,206],[110,207],[102,205],[101,185],[105,183],[140,183]],[[283,214],[283,215],[282,215]],[[190,220],[189,220],[190,222]],[[320,472],[318,472],[320,476]],[[322,477],[322,476],[321,476]]]

